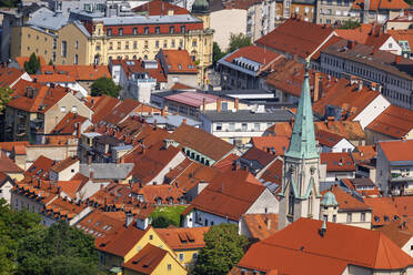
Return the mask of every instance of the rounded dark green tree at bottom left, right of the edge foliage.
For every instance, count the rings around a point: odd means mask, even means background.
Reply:
[[[28,234],[19,242],[17,274],[98,274],[93,238],[66,222]]]

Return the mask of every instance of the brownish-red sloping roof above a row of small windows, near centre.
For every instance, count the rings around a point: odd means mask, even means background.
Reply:
[[[234,149],[234,145],[220,138],[184,123],[177,128],[168,139],[179,142],[182,147],[195,150],[214,161],[223,159]]]

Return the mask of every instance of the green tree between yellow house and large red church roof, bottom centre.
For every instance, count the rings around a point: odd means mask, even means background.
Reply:
[[[228,274],[244,255],[249,244],[245,236],[238,234],[238,226],[220,224],[212,226],[204,235],[205,246],[200,251],[192,273],[195,275]]]

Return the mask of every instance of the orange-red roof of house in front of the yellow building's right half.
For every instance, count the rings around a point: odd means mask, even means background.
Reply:
[[[187,50],[160,50],[169,73],[191,73],[197,74],[198,69]]]

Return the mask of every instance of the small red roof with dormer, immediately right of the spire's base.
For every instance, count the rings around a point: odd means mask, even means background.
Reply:
[[[321,164],[326,164],[328,172],[355,172],[355,164],[351,157],[350,152],[347,153],[321,153]]]

